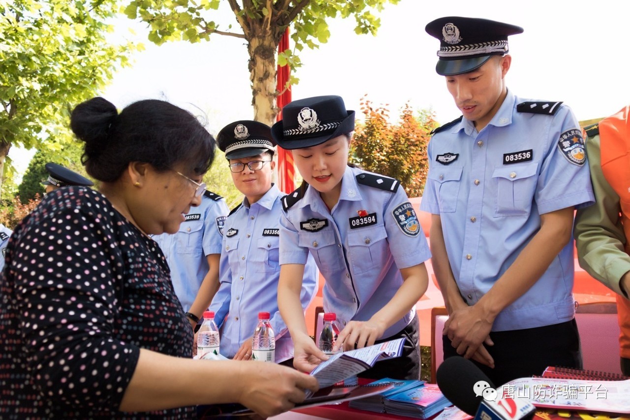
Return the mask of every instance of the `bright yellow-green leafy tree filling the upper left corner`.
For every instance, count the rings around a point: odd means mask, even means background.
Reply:
[[[103,0],[0,0],[0,173],[12,144],[71,138],[69,110],[127,64],[138,46],[108,42],[117,9]]]

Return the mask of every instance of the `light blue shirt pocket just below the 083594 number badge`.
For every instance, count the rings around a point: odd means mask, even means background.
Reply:
[[[381,269],[389,255],[385,226],[354,229],[348,233],[350,264],[354,274]]]

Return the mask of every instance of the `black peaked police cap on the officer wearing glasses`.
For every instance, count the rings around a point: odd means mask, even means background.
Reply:
[[[217,135],[219,149],[226,153],[226,159],[248,158],[266,151],[275,152],[268,125],[258,121],[241,120],[227,124]]]

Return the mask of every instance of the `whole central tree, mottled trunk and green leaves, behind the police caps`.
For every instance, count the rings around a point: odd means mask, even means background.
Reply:
[[[381,20],[375,13],[385,4],[399,0],[132,0],[124,8],[129,18],[140,18],[149,24],[149,40],[162,44],[169,40],[198,42],[213,34],[243,38],[249,53],[249,74],[255,119],[272,124],[278,112],[275,97],[276,64],[297,68],[299,57],[291,50],[278,55],[278,42],[286,28],[292,26],[295,49],[317,48],[328,41],[328,21],[352,16],[355,32],[375,35]],[[220,4],[231,8],[241,32],[231,23],[215,21]],[[289,80],[294,85],[297,79]]]

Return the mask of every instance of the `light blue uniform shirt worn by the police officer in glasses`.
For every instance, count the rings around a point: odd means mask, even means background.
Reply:
[[[260,200],[247,199],[227,217],[221,252],[221,286],[210,310],[221,330],[221,354],[233,358],[241,344],[254,335],[258,312],[269,312],[275,334],[275,361],[293,357],[293,342],[278,309],[278,242],[283,196],[272,185]],[[318,272],[312,259],[304,267],[302,308],[318,291]],[[229,315],[228,315],[229,314]]]

